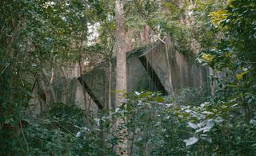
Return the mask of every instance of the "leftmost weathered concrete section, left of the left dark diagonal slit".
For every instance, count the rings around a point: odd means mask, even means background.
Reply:
[[[86,91],[83,91],[82,84],[77,78],[66,79],[65,77],[62,77],[61,79],[54,81],[51,85],[54,88],[56,103],[75,104],[82,109],[86,109],[90,106],[90,111],[98,111],[98,107],[94,103],[94,100],[90,98]],[[32,93],[32,98],[30,99],[30,110],[34,116],[40,115],[46,107],[45,101],[41,96],[43,95],[40,95],[40,91],[38,91],[38,87],[36,86]],[[51,99],[50,101],[53,102],[54,100]]]

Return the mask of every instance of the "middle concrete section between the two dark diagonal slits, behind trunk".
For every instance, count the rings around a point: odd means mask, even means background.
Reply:
[[[142,49],[136,49],[128,52],[126,55],[127,61],[127,92],[150,90],[157,91],[154,82],[150,79],[146,69],[143,67],[138,56],[143,52]],[[111,73],[111,105],[114,107],[115,102],[115,69],[116,60],[111,60],[112,73]],[[107,62],[98,64],[90,72],[86,72],[82,76],[82,82],[89,88],[86,88],[86,92],[92,92],[94,94],[94,101],[99,101],[102,106],[107,108],[109,102],[109,65]]]

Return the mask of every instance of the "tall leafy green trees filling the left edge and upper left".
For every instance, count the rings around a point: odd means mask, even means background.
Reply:
[[[87,23],[101,10],[98,1],[0,2],[0,154],[27,152],[22,119],[33,86],[50,81],[44,69],[84,55]]]

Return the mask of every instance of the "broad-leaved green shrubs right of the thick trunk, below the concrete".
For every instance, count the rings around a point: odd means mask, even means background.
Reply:
[[[164,100],[158,92],[135,92],[117,111],[132,154],[254,154],[256,127],[241,120],[236,101],[193,106]]]

